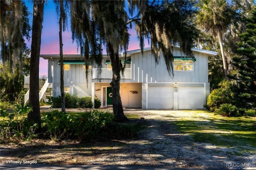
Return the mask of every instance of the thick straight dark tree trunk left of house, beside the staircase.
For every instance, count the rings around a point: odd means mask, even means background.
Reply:
[[[28,121],[39,123],[39,59],[41,46],[42,21],[44,11],[44,0],[34,0],[31,58],[30,58],[30,84],[29,84],[29,102],[33,111],[28,113]]]

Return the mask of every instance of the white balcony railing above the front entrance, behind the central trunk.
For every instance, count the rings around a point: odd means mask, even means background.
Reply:
[[[112,69],[92,69],[92,79],[112,79]],[[131,69],[124,69],[124,75],[120,72],[121,79],[131,79]]]

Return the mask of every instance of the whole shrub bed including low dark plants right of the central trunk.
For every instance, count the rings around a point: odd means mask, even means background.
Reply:
[[[81,113],[62,113],[54,110],[42,117],[44,137],[54,140],[92,138],[126,138],[136,136],[141,129],[139,124],[122,124],[114,122],[112,112],[87,110]]]

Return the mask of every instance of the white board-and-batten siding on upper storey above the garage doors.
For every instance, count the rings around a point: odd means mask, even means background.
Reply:
[[[193,71],[174,71],[174,76],[169,75],[164,57],[160,55],[159,63],[151,53],[151,50],[131,54],[131,82],[149,83],[206,83],[208,82],[208,55],[193,51],[196,61]],[[174,56],[181,56],[180,50],[174,48]],[[182,54],[182,56],[185,56]]]

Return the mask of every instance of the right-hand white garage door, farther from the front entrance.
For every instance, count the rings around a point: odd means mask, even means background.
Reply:
[[[179,87],[178,109],[203,109],[204,87]]]

